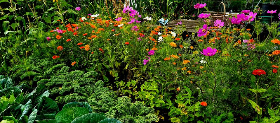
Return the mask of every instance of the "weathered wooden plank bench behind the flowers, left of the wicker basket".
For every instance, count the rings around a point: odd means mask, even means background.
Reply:
[[[186,19],[178,19],[168,22],[166,25],[161,26],[161,28],[171,28],[171,30],[176,30],[178,27],[182,27],[182,25],[176,25],[176,23],[182,21],[182,23],[185,25],[185,31],[186,32],[196,32],[195,28],[199,25],[199,20],[186,20]],[[146,24],[148,27],[157,27],[159,25],[152,25],[152,24]]]

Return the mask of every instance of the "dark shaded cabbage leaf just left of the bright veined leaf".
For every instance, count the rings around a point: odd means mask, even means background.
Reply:
[[[42,100],[39,102],[37,110],[40,112],[45,112],[44,114],[55,114],[57,111],[59,111],[59,108],[55,101],[53,101],[51,98],[43,96]]]

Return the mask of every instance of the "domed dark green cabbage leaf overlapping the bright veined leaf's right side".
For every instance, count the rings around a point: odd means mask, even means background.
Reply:
[[[74,119],[71,123],[98,123],[103,119],[107,119],[107,117],[100,115],[99,113],[89,113]]]

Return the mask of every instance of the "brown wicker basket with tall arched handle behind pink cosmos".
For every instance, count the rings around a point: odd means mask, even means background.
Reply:
[[[214,27],[214,21],[215,20],[222,20],[222,22],[225,23],[225,26],[228,26],[230,24],[229,16],[228,16],[228,14],[226,14],[226,7],[225,7],[225,4],[223,2],[221,2],[219,4],[218,11],[219,11],[219,8],[220,8],[221,4],[224,6],[224,13],[219,14],[219,12],[217,12],[217,14],[213,14],[213,15],[210,16],[210,18],[212,20],[211,23],[210,23],[210,26],[212,26],[212,27]]]

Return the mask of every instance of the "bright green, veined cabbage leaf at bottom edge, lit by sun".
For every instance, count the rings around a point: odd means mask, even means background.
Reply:
[[[58,112],[55,116],[55,120],[57,123],[70,123],[74,119],[81,117],[85,114],[88,114],[88,109],[84,107],[70,107]]]

